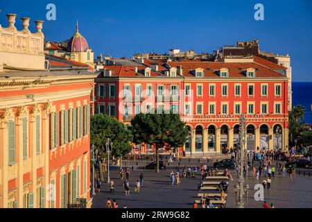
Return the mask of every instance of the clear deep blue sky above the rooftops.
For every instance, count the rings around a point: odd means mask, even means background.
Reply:
[[[56,6],[56,20],[46,20],[46,5]],[[264,6],[264,21],[254,20],[254,5]],[[133,53],[181,50],[211,52],[225,44],[259,38],[260,49],[291,56],[294,81],[311,81],[312,1],[59,1],[1,0],[6,13],[44,20],[47,40],[65,40],[76,30],[95,54],[130,57]],[[31,30],[34,24],[31,22]]]

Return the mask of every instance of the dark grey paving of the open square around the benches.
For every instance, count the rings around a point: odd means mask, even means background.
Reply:
[[[211,166],[211,164],[209,164]],[[182,165],[184,166],[184,164]],[[172,169],[161,170],[155,173],[155,170],[137,169],[130,172],[130,196],[125,196],[123,181],[121,181],[118,171],[111,171],[111,178],[115,182],[115,193],[110,194],[110,187],[107,183],[101,184],[101,193],[94,196],[92,207],[105,207],[107,198],[115,199],[119,207],[127,205],[130,208],[145,207],[164,207],[164,208],[190,208],[194,200],[198,198],[198,185],[200,175],[196,178],[181,178],[179,185],[171,185],[170,173]],[[144,173],[144,185],[139,194],[135,193],[135,182],[139,179],[139,174]],[[229,190],[227,193],[226,207],[236,207],[236,195],[234,185],[237,183],[237,177],[232,171],[233,181],[229,181]],[[312,171],[311,171],[312,175]],[[250,186],[248,194],[248,204],[245,207],[262,207],[263,201],[254,200],[254,185],[261,183],[263,176],[259,181],[248,177]],[[270,190],[264,191],[264,198],[275,207],[312,207],[312,177],[295,176],[282,178],[276,173],[272,178]]]

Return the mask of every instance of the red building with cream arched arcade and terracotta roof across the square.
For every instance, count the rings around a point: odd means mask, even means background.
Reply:
[[[285,67],[257,57],[114,63],[96,78],[96,112],[129,124],[139,112],[173,110],[187,123],[190,134],[181,149],[190,155],[234,148],[245,114],[248,150],[288,148]]]

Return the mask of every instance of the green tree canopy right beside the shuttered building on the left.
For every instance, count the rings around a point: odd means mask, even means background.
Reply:
[[[102,113],[91,116],[91,144],[105,153],[107,138],[113,143],[113,155],[122,157],[130,152],[132,134],[123,123]]]

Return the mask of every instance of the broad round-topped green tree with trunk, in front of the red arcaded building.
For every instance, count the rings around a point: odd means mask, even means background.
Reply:
[[[131,120],[133,142],[155,144],[157,172],[159,172],[158,149],[166,144],[170,148],[183,146],[189,132],[179,114],[137,114]]]

